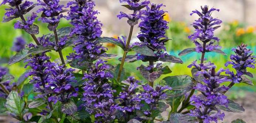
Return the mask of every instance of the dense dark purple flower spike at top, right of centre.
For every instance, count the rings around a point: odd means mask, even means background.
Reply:
[[[162,6],[164,5],[151,3],[151,7],[146,7],[145,17],[142,18],[143,21],[139,24],[141,32],[137,36],[141,45],[157,51],[155,54],[157,58],[155,59],[165,56],[162,50],[165,50],[165,42],[169,40],[165,36],[168,22],[163,19],[165,11],[160,9]],[[147,56],[139,55],[138,59],[143,60],[145,57]]]

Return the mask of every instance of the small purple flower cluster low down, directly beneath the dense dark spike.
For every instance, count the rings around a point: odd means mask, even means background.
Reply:
[[[147,109],[143,113],[146,116],[150,116],[152,111],[157,108],[157,104],[160,100],[164,100],[167,95],[165,94],[166,90],[171,90],[169,86],[156,86],[156,89],[149,86],[148,84],[143,86],[143,93],[141,93],[141,100],[144,100],[147,104],[150,105],[150,109]]]

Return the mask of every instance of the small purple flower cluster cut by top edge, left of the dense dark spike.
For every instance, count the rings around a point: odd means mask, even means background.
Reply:
[[[120,3],[126,2],[128,5],[123,5],[124,7],[128,8],[129,10],[133,10],[133,14],[126,14],[124,12],[120,12],[117,17],[119,19],[122,18],[128,18],[128,23],[131,26],[134,26],[138,23],[139,19],[143,17],[143,14],[145,11],[141,10],[142,8],[149,5],[149,0],[144,0],[143,2],[140,2],[140,0],[119,0]]]

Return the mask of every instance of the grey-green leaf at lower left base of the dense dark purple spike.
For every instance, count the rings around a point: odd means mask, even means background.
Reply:
[[[155,56],[154,52],[147,46],[134,46],[132,51],[146,56]]]

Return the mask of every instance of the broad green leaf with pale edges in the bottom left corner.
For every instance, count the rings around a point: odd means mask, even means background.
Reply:
[[[11,91],[8,97],[6,98],[6,108],[9,112],[15,114],[19,118],[23,115],[23,107],[25,102],[21,100],[20,96],[18,95],[17,91]]]

